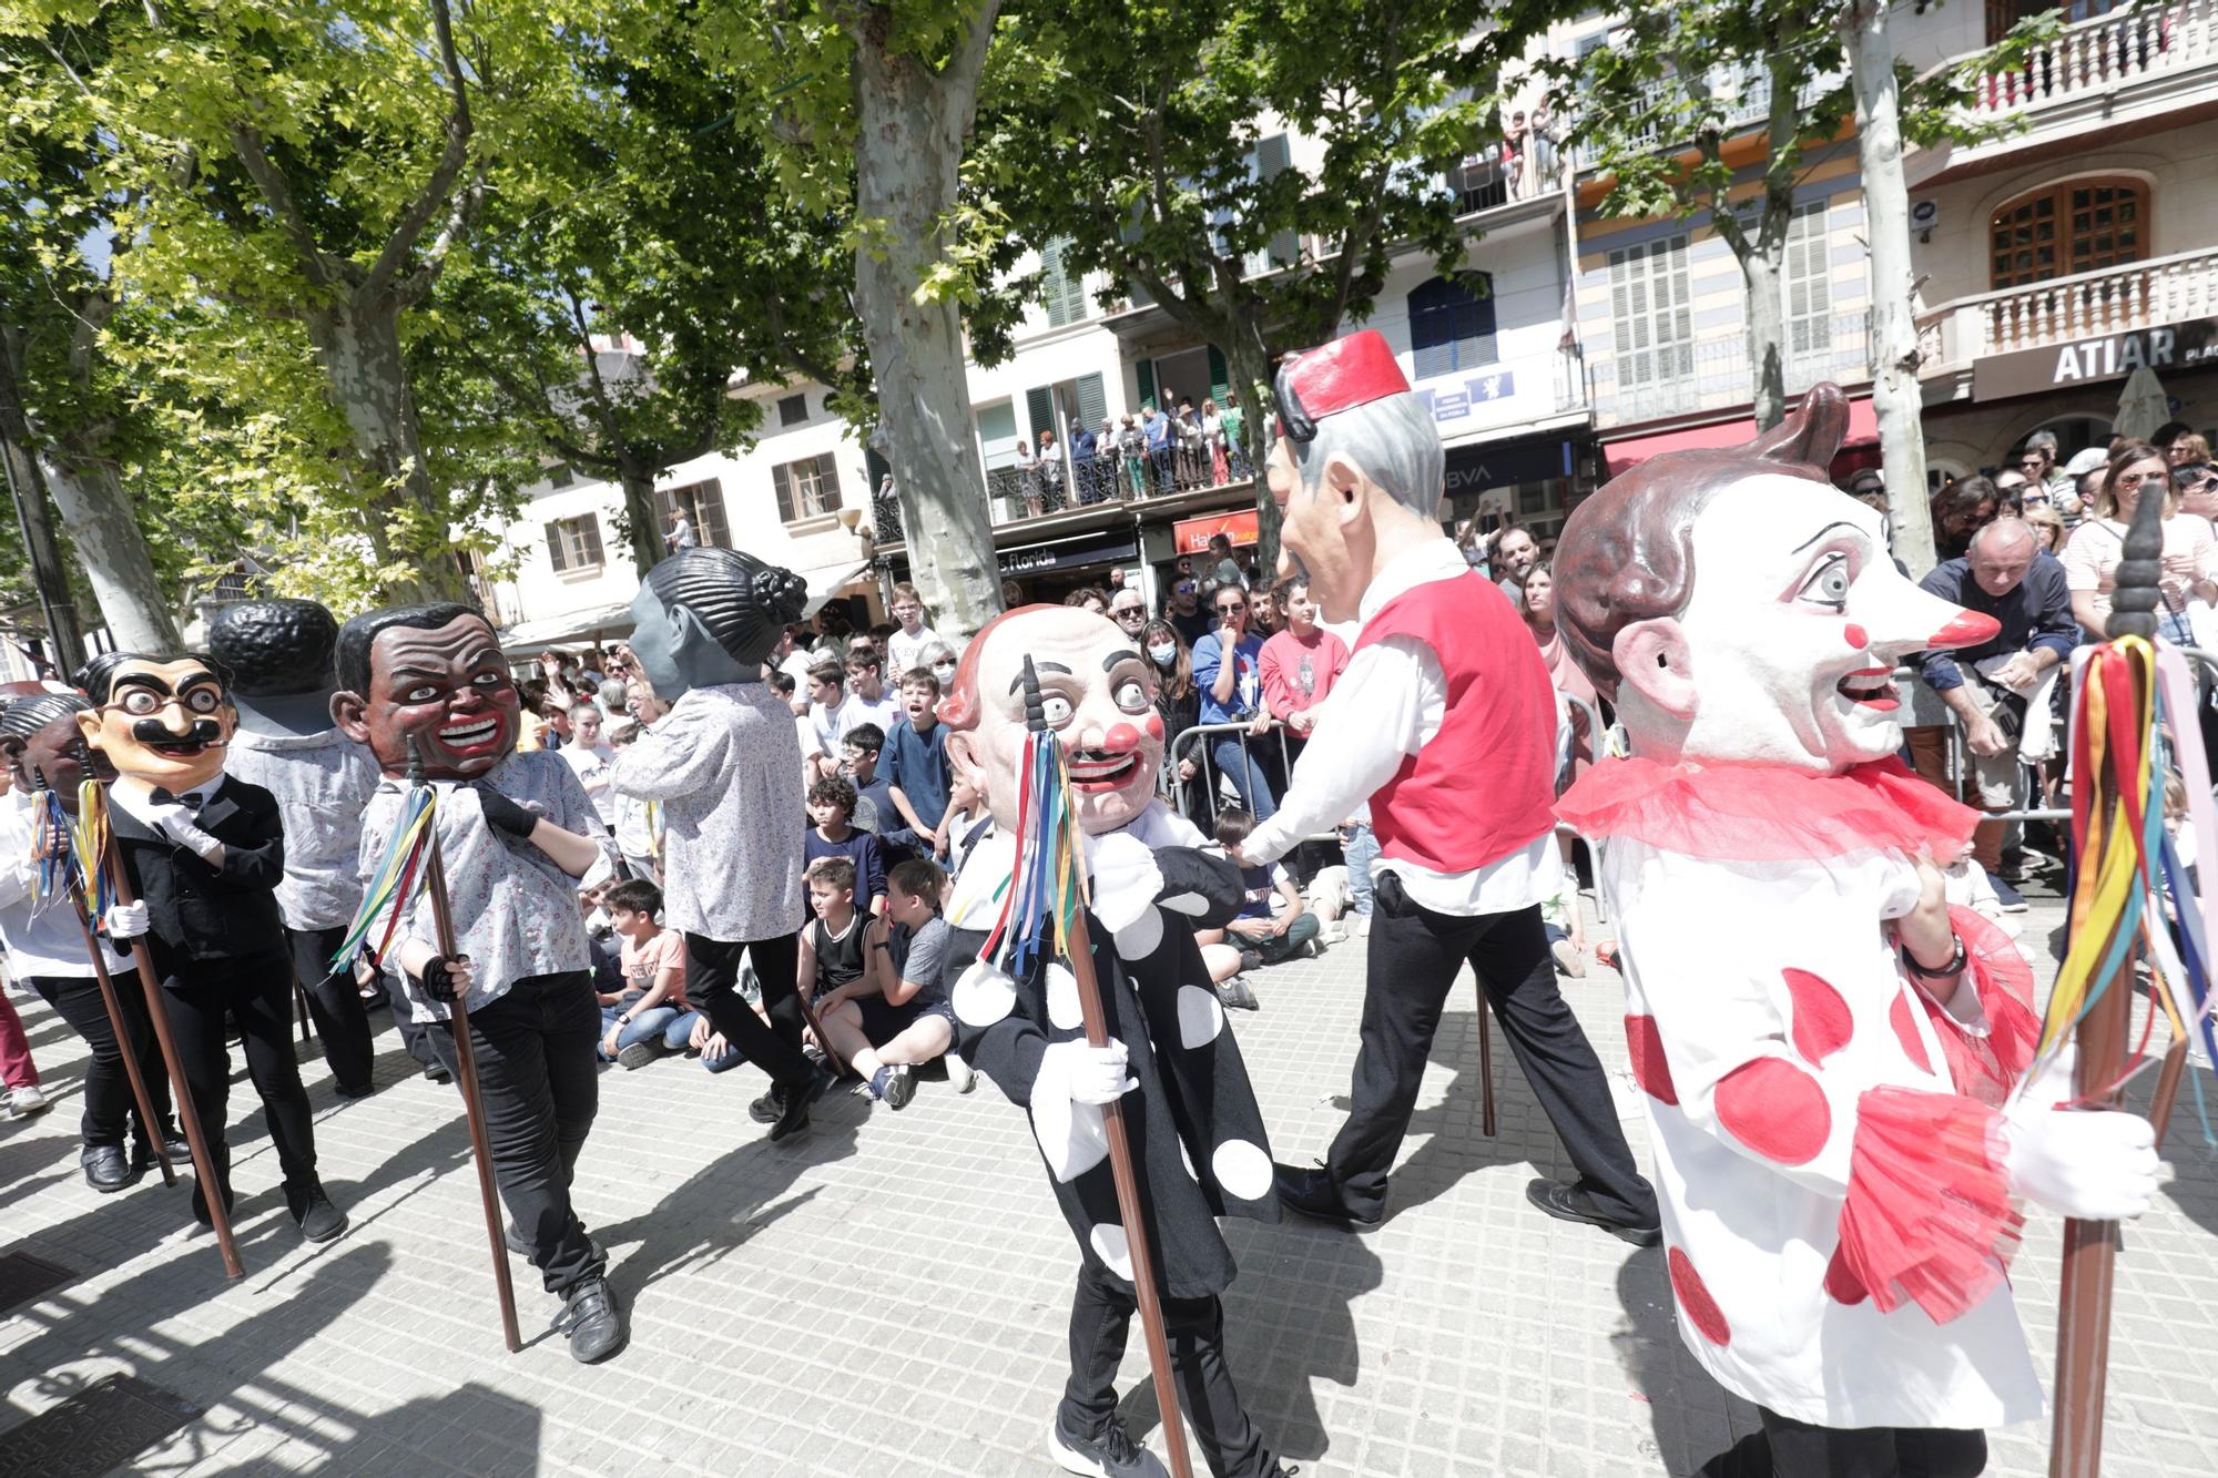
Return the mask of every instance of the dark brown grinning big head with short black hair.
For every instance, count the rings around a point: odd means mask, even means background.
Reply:
[[[521,701],[508,657],[486,617],[468,606],[399,606],[339,628],[339,692],[330,717],[377,768],[408,775],[408,746],[424,777],[470,781],[517,748]]]

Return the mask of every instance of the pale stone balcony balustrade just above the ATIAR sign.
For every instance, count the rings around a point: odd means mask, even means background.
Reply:
[[[1941,304],[1919,320],[1921,373],[2198,317],[2218,317],[2218,246]]]

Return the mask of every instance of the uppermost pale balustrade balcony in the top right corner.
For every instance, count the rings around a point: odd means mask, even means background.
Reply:
[[[1978,55],[1952,58],[1936,71],[1976,67]],[[2074,133],[2149,131],[2189,107],[2196,118],[2218,109],[2218,0],[2116,9],[2063,27],[2021,67],[1974,75],[1972,100],[1958,113],[1967,124],[1996,126],[1994,138],[1914,153],[1910,182],[1939,184]]]

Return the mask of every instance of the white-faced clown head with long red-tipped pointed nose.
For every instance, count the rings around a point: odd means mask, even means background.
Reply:
[[[1821,384],[1734,451],[1650,457],[1573,510],[1557,630],[1664,763],[1839,772],[1901,743],[1892,672],[1996,621],[1894,568],[1879,513],[1825,475],[1848,428]]]

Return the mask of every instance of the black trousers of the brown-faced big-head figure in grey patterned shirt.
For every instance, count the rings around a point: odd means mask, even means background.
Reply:
[[[601,1003],[583,970],[532,974],[470,1012],[486,1147],[508,1218],[523,1232],[550,1294],[599,1278],[608,1261],[570,1209],[570,1178],[601,1107]],[[433,1052],[455,1074],[455,1023],[435,1021]]]

